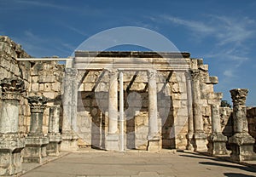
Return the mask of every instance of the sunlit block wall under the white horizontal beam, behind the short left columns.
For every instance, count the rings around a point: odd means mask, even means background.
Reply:
[[[64,66],[57,61],[32,61],[31,62],[31,85],[29,95],[44,95],[50,100],[44,110],[43,131],[48,132],[49,107],[61,105],[61,83]],[[27,119],[27,129],[29,129],[30,118]]]

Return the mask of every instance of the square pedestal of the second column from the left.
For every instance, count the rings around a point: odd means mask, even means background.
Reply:
[[[48,144],[48,137],[26,137],[23,163],[44,163],[47,160],[46,146]]]

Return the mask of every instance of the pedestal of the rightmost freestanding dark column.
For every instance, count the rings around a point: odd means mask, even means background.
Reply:
[[[229,140],[231,146],[230,159],[233,161],[256,160],[256,153],[253,151],[255,140],[248,133],[236,133]]]

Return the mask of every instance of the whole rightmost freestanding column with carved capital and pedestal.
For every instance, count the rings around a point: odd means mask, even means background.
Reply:
[[[248,134],[247,107],[245,106],[248,90],[236,88],[230,90],[233,101],[234,135],[230,137],[231,146],[230,158],[233,161],[255,160],[253,152],[255,140]]]

